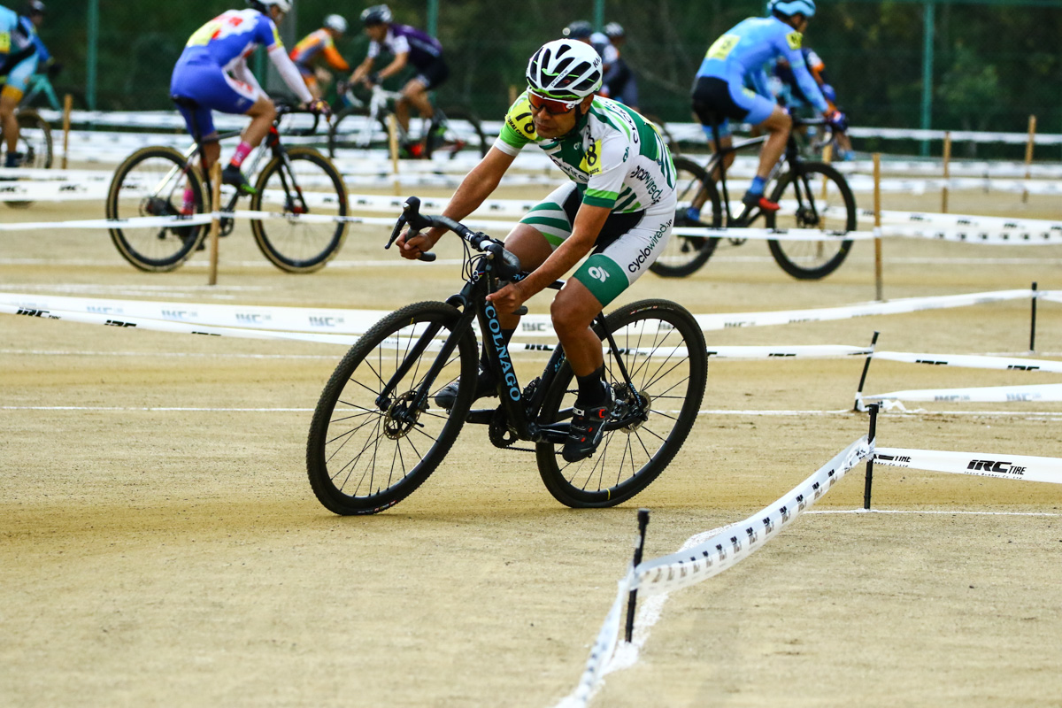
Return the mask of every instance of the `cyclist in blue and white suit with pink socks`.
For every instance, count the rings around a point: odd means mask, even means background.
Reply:
[[[269,133],[276,107],[251,73],[247,57],[259,46],[266,47],[285,84],[299,101],[325,114],[328,104],[313,99],[280,41],[276,23],[291,10],[291,0],[247,0],[247,5],[250,10],[229,10],[195,31],[173,69],[170,93],[189,133],[203,148],[203,169],[208,172],[221,157],[210,111],[251,117],[232,161],[222,172],[222,182],[253,192],[240,167]]]

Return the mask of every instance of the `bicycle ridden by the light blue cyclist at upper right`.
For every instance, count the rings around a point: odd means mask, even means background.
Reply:
[[[781,211],[746,206],[737,217],[733,215],[723,158],[756,148],[767,140],[767,136],[735,142],[732,148],[720,150],[716,135],[716,152],[706,166],[685,157],[674,159],[679,192],[675,226],[740,228],[753,226],[763,219],[766,228],[821,229],[837,238],[828,241],[769,240],[767,244],[782,270],[794,278],[817,280],[836,271],[852,248],[852,241],[845,240],[843,235],[856,229],[856,200],[844,175],[825,162],[808,161],[800,156],[795,134],[801,125],[822,125],[829,129],[822,119],[793,117],[785,156],[768,180],[773,184],[770,198],[782,204]],[[718,176],[718,186],[713,175]],[[689,206],[700,209],[699,219],[687,215]],[[730,241],[734,245],[744,242],[743,239]],[[707,262],[718,243],[718,237],[675,234],[650,270],[665,277],[687,276]]]

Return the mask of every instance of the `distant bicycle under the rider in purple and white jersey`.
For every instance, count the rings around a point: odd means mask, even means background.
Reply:
[[[336,113],[336,120],[328,128],[328,155],[336,157],[336,151],[342,148],[387,148],[387,138],[378,141],[377,129],[382,128],[383,135],[388,135],[388,116],[394,113],[394,102],[401,98],[398,91],[389,91],[380,85],[373,86],[372,94],[367,101],[359,99],[352,88],[347,86],[341,93],[345,108]],[[367,118],[357,125],[359,118]],[[455,121],[465,121],[470,132],[460,132],[455,129]],[[409,133],[397,123],[398,143],[406,144],[409,141]],[[434,116],[431,122],[426,125],[426,135],[422,136],[424,141],[423,157],[431,158],[434,154],[449,155],[450,158],[459,152],[479,153],[482,157],[486,155],[490,148],[483,128],[472,111],[464,108],[446,108],[445,110],[435,106]]]

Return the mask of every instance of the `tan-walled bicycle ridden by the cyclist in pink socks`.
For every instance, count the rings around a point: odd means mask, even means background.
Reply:
[[[347,224],[338,219],[303,220],[319,214],[342,218],[347,213],[346,186],[327,157],[312,148],[286,148],[278,125],[288,115],[308,113],[291,106],[277,106],[276,120],[254,158],[246,162],[249,175],[258,174],[253,211],[271,212],[269,219],[252,219],[251,230],[262,254],[281,271],[310,273],[324,267],[343,246]],[[314,121],[314,127],[316,121]],[[299,131],[299,133],[312,133]],[[292,131],[287,132],[292,135]],[[219,139],[235,138],[239,131]],[[107,218],[179,217],[208,210],[209,175],[202,174],[195,159],[201,145],[192,144],[184,153],[173,148],[143,148],[118,166],[107,194]],[[258,166],[267,156],[266,167]],[[185,207],[185,189],[192,197]],[[223,188],[227,203],[222,211],[232,212],[241,194]],[[234,228],[230,217],[221,220],[221,236]],[[141,271],[172,271],[201,247],[208,225],[168,225],[152,228],[115,227],[110,239],[125,260]]]

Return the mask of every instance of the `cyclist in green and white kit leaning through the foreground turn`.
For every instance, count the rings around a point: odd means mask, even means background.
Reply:
[[[544,45],[528,63],[528,90],[509,109],[494,146],[443,212],[461,220],[476,210],[530,143],[571,179],[532,208],[506,238],[506,248],[530,275],[487,297],[508,343],[519,324],[519,316],[511,313],[589,254],[550,308],[579,381],[563,452],[568,462],[593,454],[601,441],[601,422],[612,410],[601,341],[590,329],[594,317],[649,270],[671,236],[675,213],[674,166],[667,146],[637,113],[595,96],[601,77],[601,57],[589,45],[569,39]],[[443,232],[407,230],[397,241],[399,253],[418,258]],[[497,383],[481,365],[477,398],[496,396]],[[449,408],[456,396],[457,385],[451,384],[435,402]]]

